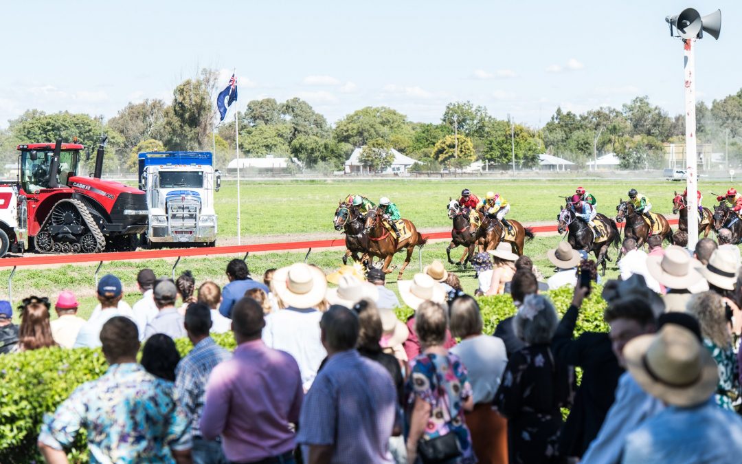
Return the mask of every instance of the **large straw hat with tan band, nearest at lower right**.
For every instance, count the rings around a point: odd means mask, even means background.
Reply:
[[[709,350],[679,325],[665,324],[656,334],[637,336],[623,348],[623,357],[641,388],[669,405],[706,402],[719,382]]]

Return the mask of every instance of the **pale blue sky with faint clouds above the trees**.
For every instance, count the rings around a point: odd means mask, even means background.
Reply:
[[[199,68],[237,68],[240,101],[306,99],[334,123],[367,105],[435,122],[447,102],[544,124],[557,106],[649,95],[683,110],[683,50],[664,17],[721,8],[697,48],[697,92],[742,87],[742,2],[9,1],[0,26],[0,127],[27,108],[115,116]]]

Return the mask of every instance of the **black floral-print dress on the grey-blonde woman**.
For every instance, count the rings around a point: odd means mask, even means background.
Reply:
[[[510,464],[559,462],[562,412],[574,391],[574,372],[555,362],[549,344],[514,353],[493,404],[508,419]]]

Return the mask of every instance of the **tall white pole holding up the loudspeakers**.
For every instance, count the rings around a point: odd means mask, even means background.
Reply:
[[[688,249],[695,249],[698,241],[698,179],[696,169],[695,123],[695,39],[683,40],[686,85],[686,159],[688,177]]]

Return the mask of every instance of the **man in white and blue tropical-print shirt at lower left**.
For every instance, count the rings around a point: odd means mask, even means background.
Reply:
[[[137,364],[137,324],[116,316],[100,332],[110,367],[87,382],[45,417],[39,450],[47,463],[67,463],[64,448],[81,429],[87,435],[90,462],[190,463],[191,427],[171,391]]]

